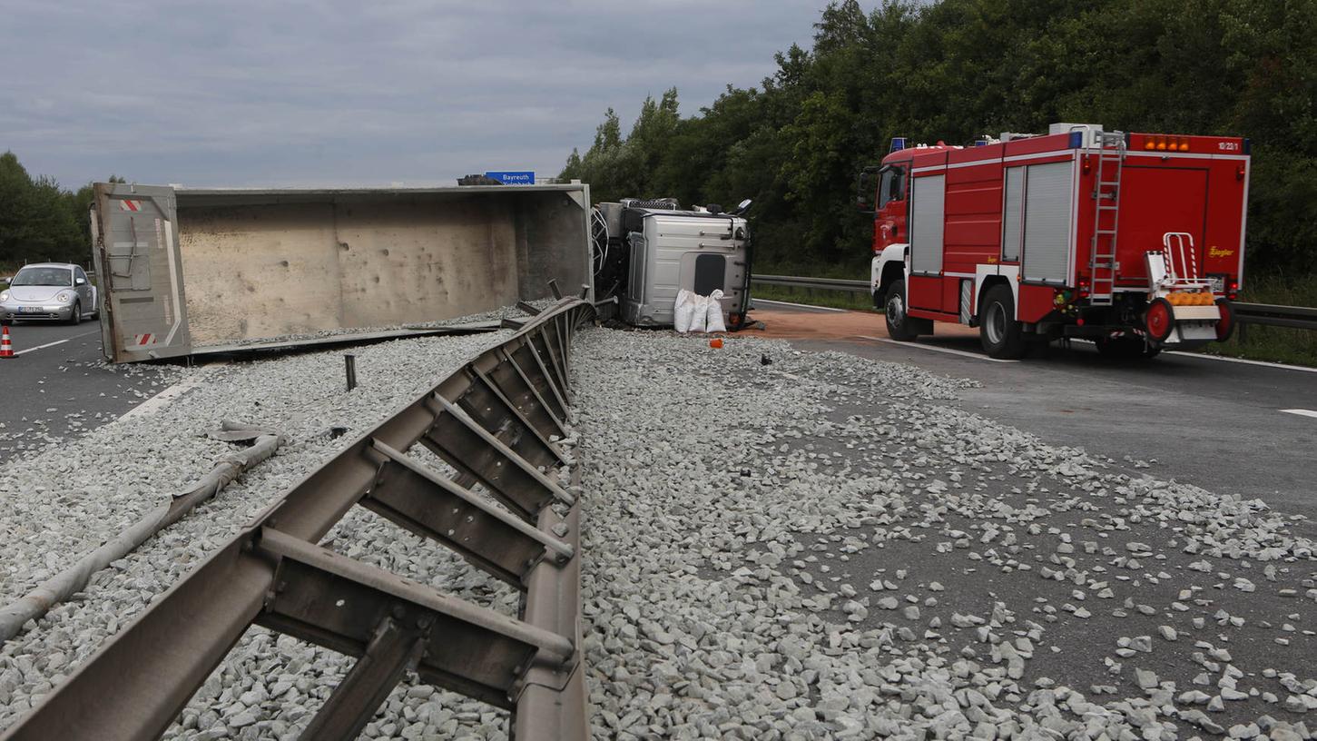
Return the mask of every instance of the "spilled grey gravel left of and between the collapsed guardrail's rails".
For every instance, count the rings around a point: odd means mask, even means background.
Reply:
[[[340,352],[179,369],[184,381],[199,384],[157,411],[111,422],[59,448],[0,467],[0,501],[7,505],[0,513],[0,599],[11,601],[209,471],[213,459],[230,450],[204,436],[221,419],[271,427],[290,438],[273,459],[111,564],[84,592],[0,646],[0,729],[282,490],[510,334],[406,339],[356,348],[360,385],[352,393],[344,392]],[[342,436],[335,438],[332,427],[342,427]],[[329,547],[369,563],[421,581],[441,580],[446,591],[482,601],[495,599],[495,604],[506,607],[512,600],[515,608],[515,595],[473,574],[444,548],[366,510],[352,513],[329,537]],[[266,645],[288,650],[265,651]],[[275,665],[278,671],[270,668]],[[282,736],[279,724],[287,728],[290,720],[277,717],[279,711],[290,708],[294,719],[300,717],[307,711],[294,707],[307,705],[304,695],[328,696],[349,666],[329,651],[253,629],[170,737]],[[261,688],[253,690],[255,684]],[[458,719],[479,728],[487,719],[491,733],[500,733],[504,723],[502,713],[478,703],[456,696],[439,703],[441,695],[429,688],[410,687],[402,695],[416,708],[428,708],[424,715],[436,729],[456,726]],[[390,704],[395,700],[403,701],[398,694]],[[207,723],[211,717],[205,713],[212,708],[224,723]],[[416,712],[421,711],[414,709],[412,715]],[[402,712],[395,717],[403,717]]]

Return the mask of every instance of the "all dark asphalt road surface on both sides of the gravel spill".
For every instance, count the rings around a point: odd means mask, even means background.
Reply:
[[[894,343],[877,315],[756,305],[756,318],[809,312],[818,316],[820,334],[832,327],[827,339],[793,339],[802,349],[838,349],[973,378],[981,388],[964,390],[959,403],[984,417],[1131,468],[1146,461],[1146,471],[1159,477],[1262,498],[1317,519],[1317,372],[1189,353],[1110,363],[1084,343],[996,363],[960,327],[939,324],[940,336]],[[835,331],[843,319],[856,328]],[[95,322],[20,324],[11,334],[21,355],[0,360],[7,392],[0,461],[116,419],[173,382],[171,365],[107,365]]]

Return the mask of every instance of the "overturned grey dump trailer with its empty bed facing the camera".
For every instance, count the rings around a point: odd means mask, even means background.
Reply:
[[[551,280],[564,290],[591,285],[589,204],[582,183],[96,183],[105,357],[283,347],[338,330],[407,335],[406,324],[547,298]]]

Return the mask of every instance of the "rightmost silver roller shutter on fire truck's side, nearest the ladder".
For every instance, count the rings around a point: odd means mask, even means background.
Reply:
[[[1064,283],[1073,233],[1075,162],[1030,165],[1025,175],[1026,281]]]

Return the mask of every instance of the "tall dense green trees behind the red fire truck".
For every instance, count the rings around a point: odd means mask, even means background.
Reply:
[[[1317,0],[832,3],[811,49],[777,54],[761,88],[727,91],[681,117],[677,91],[647,99],[628,136],[610,109],[564,177],[595,200],[753,198],[759,258],[857,270],[872,224],[853,208],[859,170],[893,136],[968,144],[1109,129],[1252,141],[1252,269],[1317,273]]]

